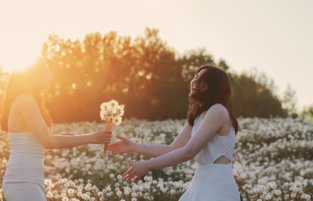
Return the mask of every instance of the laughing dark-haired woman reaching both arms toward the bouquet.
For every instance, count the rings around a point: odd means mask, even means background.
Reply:
[[[120,141],[108,145],[111,153],[136,152],[154,157],[128,164],[123,179],[138,179],[149,170],[195,158],[198,167],[179,201],[240,201],[232,173],[238,122],[232,112],[232,86],[227,73],[213,65],[201,66],[190,82],[187,122],[170,145]]]

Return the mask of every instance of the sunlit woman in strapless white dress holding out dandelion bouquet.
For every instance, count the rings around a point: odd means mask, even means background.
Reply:
[[[52,121],[45,109],[42,90],[52,77],[43,57],[23,71],[13,71],[1,102],[0,129],[8,134],[10,156],[2,181],[6,201],[46,201],[44,151],[84,144],[110,143],[111,131],[73,135],[51,135]]]

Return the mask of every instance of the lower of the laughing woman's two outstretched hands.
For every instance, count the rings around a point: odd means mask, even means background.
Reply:
[[[130,168],[123,174],[123,180],[136,180],[145,175],[149,171],[146,163],[147,161],[144,160],[128,163]]]

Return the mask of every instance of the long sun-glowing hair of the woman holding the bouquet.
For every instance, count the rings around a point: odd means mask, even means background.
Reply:
[[[37,76],[42,76],[42,64],[45,64],[44,58],[41,56],[36,57],[35,61],[22,71],[13,71],[4,86],[1,110],[0,110],[0,129],[8,132],[8,115],[11,105],[15,98],[22,93],[30,94],[37,102],[39,111],[48,127],[52,126],[52,121],[49,116],[48,110],[44,107],[43,95],[35,85]],[[41,68],[40,68],[41,67]]]

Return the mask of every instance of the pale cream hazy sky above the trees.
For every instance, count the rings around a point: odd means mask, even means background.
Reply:
[[[313,105],[313,0],[1,0],[0,64],[9,71],[51,33],[134,39],[146,27],[180,54],[204,48],[236,73],[256,68],[279,97],[290,86],[298,110]]]

